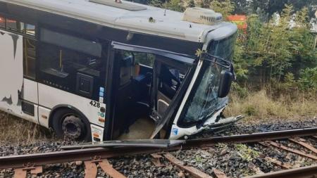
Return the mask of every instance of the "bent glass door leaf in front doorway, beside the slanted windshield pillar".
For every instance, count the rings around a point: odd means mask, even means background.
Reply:
[[[165,124],[170,118],[170,108],[178,105],[175,98],[179,93],[178,91],[180,91],[180,87],[182,86],[188,71],[189,66],[184,63],[180,63],[179,61],[164,56],[156,56],[152,95],[154,105],[151,117],[156,120],[157,132],[159,132],[160,129],[163,129],[163,132],[161,132],[160,135],[161,138],[165,137],[165,133],[168,132],[169,126]]]

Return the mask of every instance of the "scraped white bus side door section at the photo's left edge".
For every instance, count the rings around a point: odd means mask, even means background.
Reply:
[[[31,27],[9,19],[6,22],[10,31],[35,32],[34,25]],[[30,34],[30,38],[27,38],[0,30],[0,109],[38,123],[35,40],[32,36],[34,37],[35,34]]]

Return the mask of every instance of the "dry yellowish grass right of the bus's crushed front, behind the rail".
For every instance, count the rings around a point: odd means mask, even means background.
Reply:
[[[244,115],[244,122],[303,120],[317,116],[317,94],[290,92],[273,96],[268,91],[230,94],[226,116]]]

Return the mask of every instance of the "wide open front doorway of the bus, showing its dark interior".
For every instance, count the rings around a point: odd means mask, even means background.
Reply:
[[[112,46],[115,51],[115,61],[119,63],[116,69],[120,72],[117,74],[118,80],[113,81],[113,84],[116,83],[113,89],[116,92],[114,94],[116,99],[114,99],[112,117],[114,123],[112,133],[115,136],[112,136],[112,139],[118,138],[120,135],[118,132],[124,132],[124,129],[138,119],[137,117],[145,115],[155,122],[147,139],[158,134],[163,126],[166,126],[164,129],[168,132],[170,125],[166,123],[169,123],[168,120],[177,110],[181,96],[185,94],[182,88],[185,88],[184,83],[189,83],[185,80],[194,59],[170,51],[118,42],[113,42]],[[138,64],[135,61],[140,54],[152,56],[151,67],[144,65],[137,67]],[[149,58],[145,60],[149,61]],[[116,77],[113,77],[113,80],[115,79]],[[127,87],[128,89],[125,89]],[[151,136],[154,132],[156,134]],[[132,138],[129,137],[129,139]]]

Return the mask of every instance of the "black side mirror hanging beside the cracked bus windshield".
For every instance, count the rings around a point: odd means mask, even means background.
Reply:
[[[232,72],[227,70],[221,71],[220,82],[218,87],[218,97],[225,98],[228,96],[231,88],[231,83],[233,80]]]

